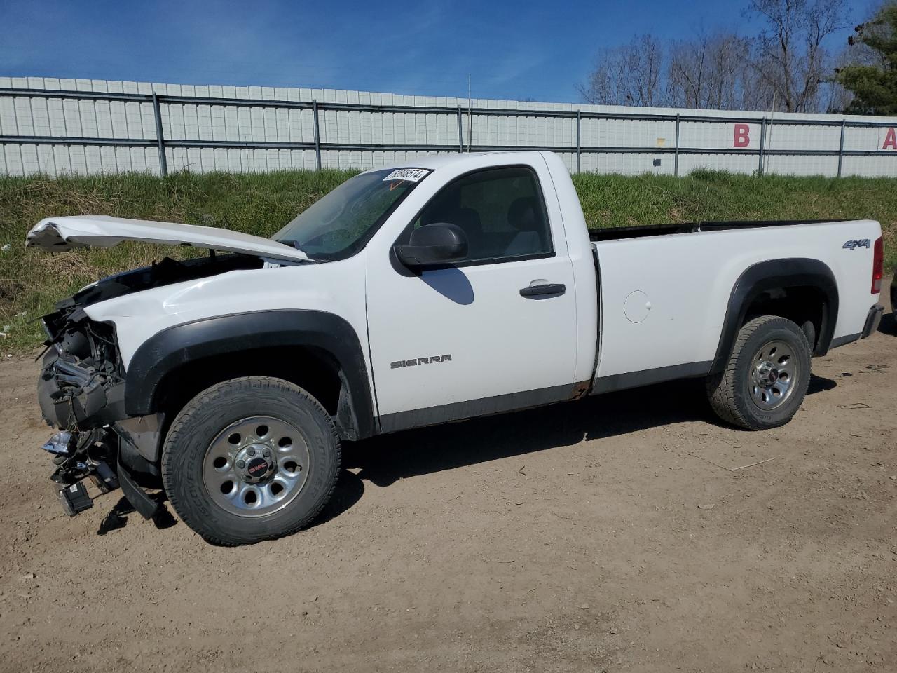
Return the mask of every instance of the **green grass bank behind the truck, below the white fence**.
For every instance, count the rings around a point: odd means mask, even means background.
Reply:
[[[39,316],[97,278],[166,254],[141,243],[48,255],[24,249],[25,233],[50,215],[205,224],[270,236],[352,171],[179,173],[92,178],[0,178],[0,348],[38,345]],[[897,179],[797,178],[698,171],[686,178],[583,174],[574,177],[592,228],[695,220],[858,219],[882,223],[887,266],[897,263]]]

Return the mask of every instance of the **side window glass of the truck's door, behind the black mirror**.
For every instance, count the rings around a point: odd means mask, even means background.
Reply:
[[[480,170],[432,198],[414,227],[448,222],[467,234],[466,261],[552,254],[552,236],[536,174],[524,167]]]

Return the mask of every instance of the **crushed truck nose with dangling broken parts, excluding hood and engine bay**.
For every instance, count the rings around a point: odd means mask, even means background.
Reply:
[[[42,448],[54,456],[57,467],[51,478],[59,486],[63,509],[74,516],[92,506],[86,481],[100,494],[121,486],[135,510],[152,517],[158,505],[137,485],[135,473],[158,476],[138,443],[158,441],[161,418],[126,414],[125,372],[115,329],[91,320],[75,298],[58,304],[43,324],[48,349],[38,400],[45,420],[60,432]]]

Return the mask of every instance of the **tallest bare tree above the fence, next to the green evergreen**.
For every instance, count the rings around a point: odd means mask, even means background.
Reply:
[[[823,42],[845,27],[845,0],[751,0],[766,27],[754,40],[753,66],[788,112],[820,109],[831,63]]]

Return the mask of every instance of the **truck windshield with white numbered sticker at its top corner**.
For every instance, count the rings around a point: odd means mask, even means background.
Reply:
[[[346,180],[272,238],[309,258],[344,259],[362,249],[429,170],[371,170]]]

